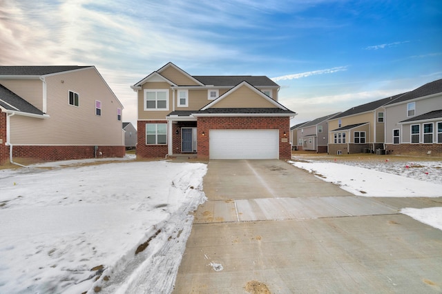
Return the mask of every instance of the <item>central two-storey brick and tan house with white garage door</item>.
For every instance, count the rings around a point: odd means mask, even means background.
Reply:
[[[191,76],[173,63],[131,86],[137,157],[290,159],[290,118],[265,76]]]

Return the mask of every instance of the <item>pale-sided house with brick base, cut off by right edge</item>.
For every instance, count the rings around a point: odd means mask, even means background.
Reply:
[[[387,153],[442,155],[442,79],[385,105]]]

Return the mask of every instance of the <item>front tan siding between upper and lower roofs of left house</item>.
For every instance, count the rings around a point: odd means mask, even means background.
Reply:
[[[43,111],[43,81],[40,79],[2,79],[0,84]]]

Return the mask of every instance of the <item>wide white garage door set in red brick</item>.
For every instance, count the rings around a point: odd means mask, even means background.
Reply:
[[[279,130],[210,130],[210,159],[278,159]]]

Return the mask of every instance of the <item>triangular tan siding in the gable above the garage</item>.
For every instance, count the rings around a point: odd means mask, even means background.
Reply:
[[[242,86],[211,108],[277,108],[253,90]]]

